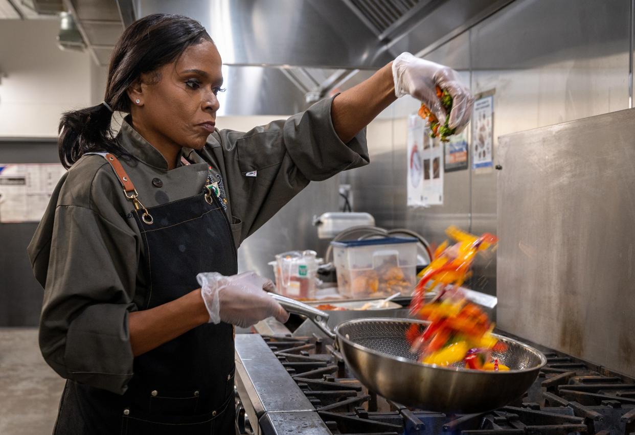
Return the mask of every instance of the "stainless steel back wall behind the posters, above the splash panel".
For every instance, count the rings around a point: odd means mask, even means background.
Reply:
[[[474,94],[495,91],[496,164],[500,135],[629,107],[629,17],[627,0],[516,0],[423,57],[459,70]],[[442,206],[406,206],[406,118],[417,109],[402,98],[369,127],[372,164],[345,175],[356,211],[436,243],[450,224],[496,232],[493,168],[446,173]],[[494,294],[495,271],[484,258],[472,286]]]

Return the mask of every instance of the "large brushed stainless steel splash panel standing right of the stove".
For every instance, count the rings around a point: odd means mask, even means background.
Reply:
[[[635,110],[500,137],[498,325],[635,375]]]

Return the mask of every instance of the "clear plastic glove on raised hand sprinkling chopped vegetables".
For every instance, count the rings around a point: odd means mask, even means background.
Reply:
[[[452,111],[448,126],[456,128],[457,133],[464,130],[472,116],[474,98],[461,83],[458,73],[443,65],[414,57],[410,53],[401,53],[392,62],[392,79],[395,83],[395,95],[411,95],[417,98],[443,123],[446,112],[436,95],[436,86],[448,91],[452,97]]]

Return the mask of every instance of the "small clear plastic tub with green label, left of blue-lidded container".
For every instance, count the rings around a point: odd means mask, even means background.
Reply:
[[[316,251],[288,251],[270,262],[274,268],[277,293],[294,299],[313,299],[316,293],[318,265]]]

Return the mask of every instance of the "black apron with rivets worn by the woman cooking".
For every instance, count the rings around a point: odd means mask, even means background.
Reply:
[[[147,294],[135,296],[140,309],[198,288],[199,272],[237,273],[227,215],[211,189],[203,190],[133,211],[149,277]],[[68,380],[53,434],[234,434],[234,413],[234,328],[208,323],[135,358],[123,396]]]

